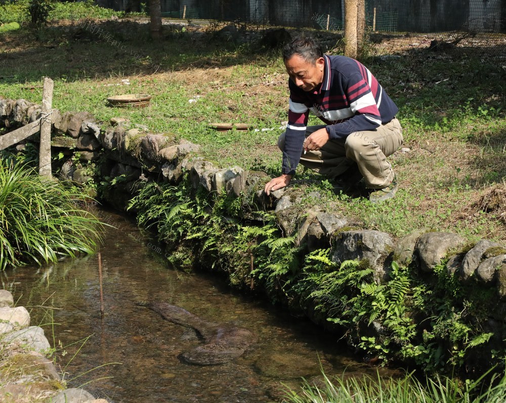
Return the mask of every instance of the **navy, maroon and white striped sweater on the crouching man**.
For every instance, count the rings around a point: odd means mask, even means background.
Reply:
[[[310,111],[327,124],[331,140],[344,140],[355,131],[374,130],[390,122],[398,112],[363,64],[345,56],[324,55],[324,59],[323,82],[319,88],[305,92],[288,81],[290,99],[282,173],[295,173]]]

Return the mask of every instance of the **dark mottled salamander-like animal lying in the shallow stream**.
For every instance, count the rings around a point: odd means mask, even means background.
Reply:
[[[146,306],[177,325],[194,329],[205,344],[181,354],[184,361],[197,365],[224,364],[244,353],[256,341],[255,334],[248,329],[227,323],[206,321],[186,309],[166,302],[152,302]]]

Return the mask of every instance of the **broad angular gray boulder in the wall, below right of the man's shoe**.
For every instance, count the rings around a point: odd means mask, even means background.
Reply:
[[[334,262],[341,264],[345,260],[365,259],[376,272],[376,282],[385,278],[385,259],[394,250],[394,241],[389,234],[372,230],[343,231],[334,236],[334,240]]]

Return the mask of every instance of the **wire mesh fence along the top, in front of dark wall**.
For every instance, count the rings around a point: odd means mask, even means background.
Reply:
[[[103,0],[107,1],[107,0]],[[365,0],[366,32],[378,53],[417,48],[470,51],[480,48],[506,59],[506,0]],[[240,21],[263,26],[311,28],[343,33],[345,1],[162,0],[176,18]],[[187,9],[187,10],[188,10]],[[167,14],[168,15],[168,14]]]

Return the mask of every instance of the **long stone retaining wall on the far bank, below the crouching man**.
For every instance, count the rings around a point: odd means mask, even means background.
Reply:
[[[33,121],[40,113],[37,105],[24,100],[0,100],[0,126],[16,127]],[[139,184],[145,181],[180,184],[188,178],[193,189],[223,193],[241,198],[243,206],[254,204],[257,208],[273,211],[283,234],[296,234],[296,244],[306,245],[307,251],[327,248],[331,245],[331,258],[335,263],[361,260],[374,271],[374,280],[386,284],[392,273],[392,262],[408,266],[430,284],[436,276],[466,284],[468,289],[487,290],[492,295],[487,306],[486,319],[477,326],[493,333],[480,348],[487,351],[503,349],[506,338],[506,248],[504,245],[482,239],[470,243],[453,233],[420,229],[400,240],[387,233],[350,228],[349,219],[331,204],[325,207],[303,207],[306,197],[297,187],[263,192],[267,175],[264,172],[247,171],[241,167],[220,168],[198,156],[199,146],[186,141],[175,141],[167,133],[150,133],[143,125],[128,119],[114,118],[107,124],[99,124],[86,112],[72,113],[54,110],[53,147],[64,154],[78,155],[69,158],[60,174],[79,183],[95,180],[90,166],[101,158],[102,178],[113,181],[104,198],[114,207],[124,210]],[[25,145],[16,146],[22,150]],[[318,197],[318,194],[313,195]],[[245,211],[246,209],[244,209]],[[241,212],[238,218],[255,220],[254,214]],[[236,217],[237,218],[237,217]],[[311,307],[306,314],[311,315]],[[312,318],[325,324],[325,320]],[[427,318],[420,318],[427,321]],[[372,336],[381,336],[381,324],[369,326]],[[479,353],[475,358],[479,359]]]

